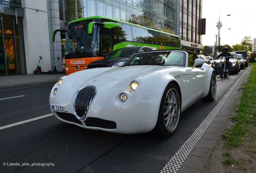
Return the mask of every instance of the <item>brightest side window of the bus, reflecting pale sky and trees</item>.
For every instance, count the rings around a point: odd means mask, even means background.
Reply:
[[[149,33],[145,28],[132,26],[133,41],[149,43]]]

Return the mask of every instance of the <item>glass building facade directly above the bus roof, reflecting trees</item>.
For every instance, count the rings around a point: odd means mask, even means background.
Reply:
[[[64,22],[107,16],[175,34],[175,0],[59,0],[59,10]]]

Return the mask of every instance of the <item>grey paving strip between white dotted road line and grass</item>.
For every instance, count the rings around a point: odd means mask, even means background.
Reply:
[[[206,164],[207,158],[210,155],[212,148],[215,146],[217,138],[225,124],[227,117],[229,116],[229,112],[233,109],[233,105],[236,102],[237,96],[240,94],[239,90],[243,84],[248,81],[248,76],[251,72],[251,66],[248,66],[248,70],[244,74],[243,78],[239,81],[232,94],[227,99],[225,105],[221,108],[219,113],[217,113],[215,119],[205,131],[202,138],[196,144],[193,151],[191,151],[190,155],[183,163],[182,167],[178,172],[180,173],[200,173],[204,165]],[[235,92],[238,91],[238,92]]]

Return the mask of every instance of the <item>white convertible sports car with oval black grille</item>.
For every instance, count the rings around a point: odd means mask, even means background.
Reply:
[[[140,52],[118,67],[61,77],[49,109],[85,129],[171,136],[183,111],[199,99],[215,99],[215,70],[204,62],[184,49]]]

